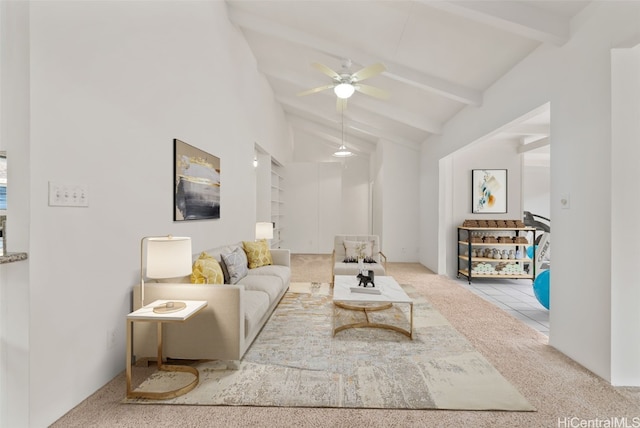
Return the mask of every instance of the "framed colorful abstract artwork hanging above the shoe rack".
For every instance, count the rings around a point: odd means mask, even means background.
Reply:
[[[507,212],[507,170],[471,171],[471,208],[473,213]]]

